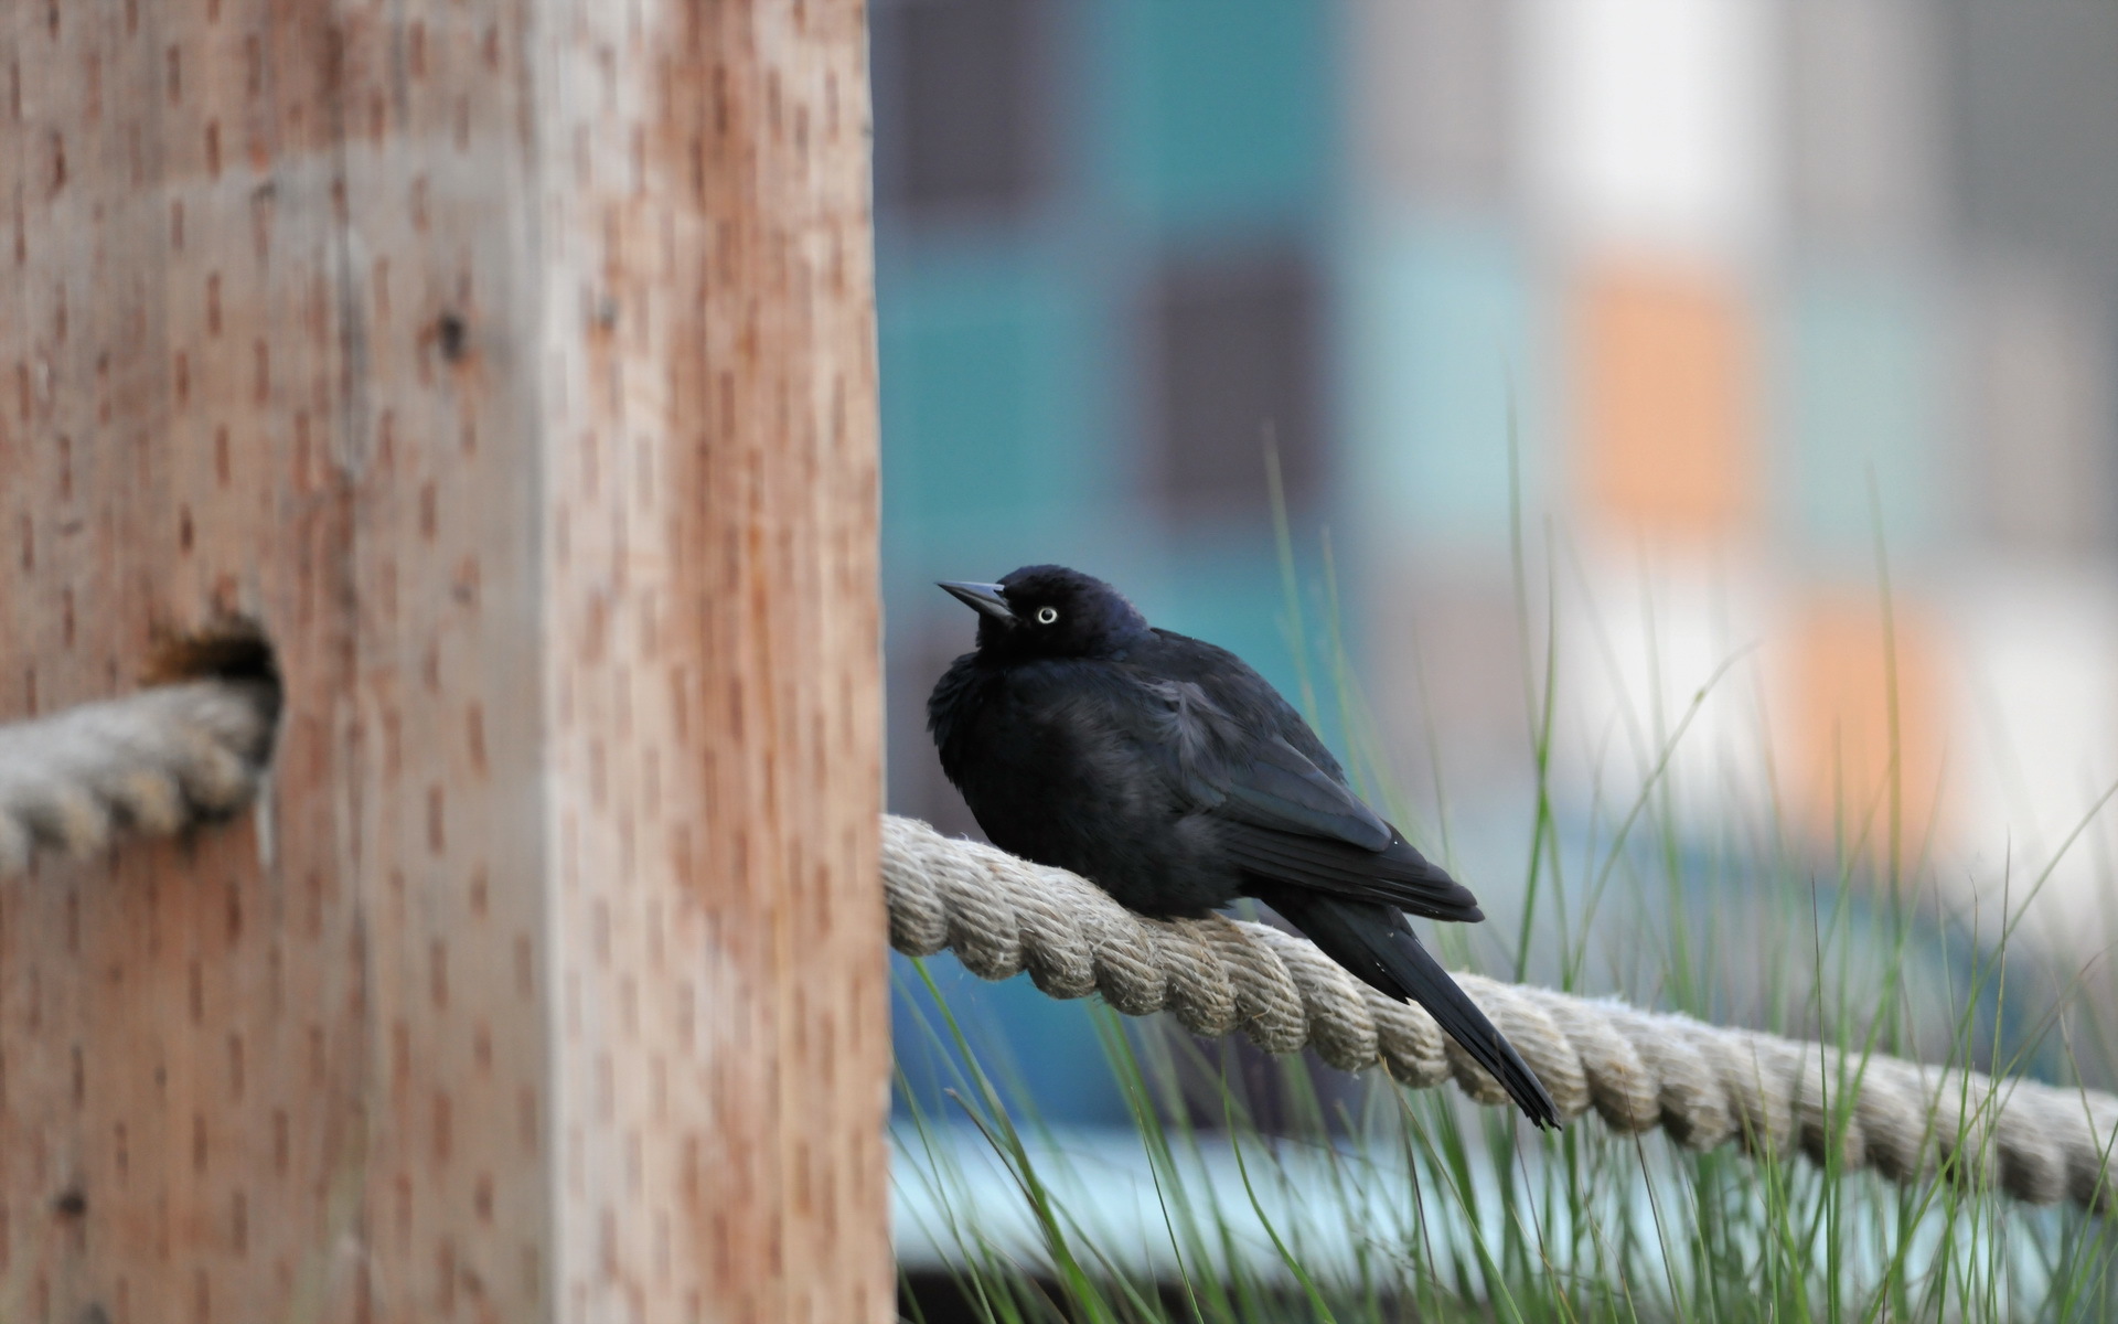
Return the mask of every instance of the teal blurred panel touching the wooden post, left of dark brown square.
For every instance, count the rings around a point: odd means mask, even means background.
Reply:
[[[1061,280],[1021,261],[904,269],[879,316],[892,542],[1057,525],[1097,491],[1084,322]]]

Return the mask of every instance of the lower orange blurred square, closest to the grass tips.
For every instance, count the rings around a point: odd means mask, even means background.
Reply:
[[[1910,869],[1940,813],[1936,636],[1902,606],[1885,629],[1874,600],[1828,595],[1809,604],[1796,638],[1800,822],[1817,841],[1845,841],[1849,856],[1887,869],[1896,849]]]

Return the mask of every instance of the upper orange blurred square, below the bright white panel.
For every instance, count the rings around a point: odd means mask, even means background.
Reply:
[[[1762,504],[1752,333],[1735,288],[1682,269],[1595,271],[1574,335],[1597,513],[1711,538]]]

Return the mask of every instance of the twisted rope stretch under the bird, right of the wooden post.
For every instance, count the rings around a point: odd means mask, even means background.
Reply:
[[[974,974],[1029,979],[1053,998],[1101,994],[1125,1015],[1167,1010],[1192,1034],[1241,1030],[1269,1053],[1311,1046],[1334,1068],[1383,1063],[1404,1085],[1442,1080],[1480,1104],[1500,1085],[1419,1006],[1356,981],[1307,938],[1224,917],[1146,919],[1095,883],[923,822],[883,818],[890,941],[955,951]],[[2027,1203],[2118,1199],[2118,1097],[1959,1068],[1841,1053],[1754,1030],[1457,974],[1514,1042],[1567,1121],[1663,1127],[1694,1150],[1800,1148],[1896,1182],[1944,1171]]]

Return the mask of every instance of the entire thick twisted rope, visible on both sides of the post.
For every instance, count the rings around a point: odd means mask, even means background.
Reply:
[[[85,854],[119,830],[178,833],[256,794],[273,686],[201,680],[0,724],[0,877],[36,847]],[[1404,1085],[1455,1080],[1506,1104],[1487,1072],[1419,1006],[1356,981],[1305,938],[1233,919],[1144,919],[1099,888],[923,822],[883,818],[890,941],[943,949],[985,979],[1021,970],[1053,998],[1101,994],[1127,1015],[1169,1010],[1186,1030],[1248,1034],[1273,1053],[1381,1063]],[[2029,1203],[2118,1199],[2118,1097],[1978,1072],[1862,1057],[1610,1000],[1459,974],[1565,1119],[1663,1127],[1709,1150],[1800,1148],[1900,1182],[1946,1171]]]

